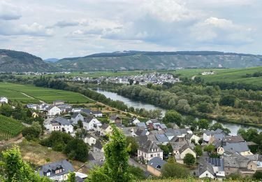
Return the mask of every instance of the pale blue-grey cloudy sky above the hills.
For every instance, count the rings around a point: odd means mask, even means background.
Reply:
[[[42,57],[122,50],[262,54],[261,0],[0,0],[0,48]]]

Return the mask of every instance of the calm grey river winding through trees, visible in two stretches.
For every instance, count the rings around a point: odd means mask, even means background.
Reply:
[[[152,104],[147,104],[145,102],[141,102],[141,101],[136,101],[133,99],[129,99],[127,97],[123,97],[115,92],[108,92],[105,90],[101,90],[101,89],[96,89],[96,92],[99,92],[101,94],[104,94],[105,97],[109,97],[112,100],[119,100],[124,102],[124,104],[126,104],[127,106],[133,106],[134,109],[146,109],[146,110],[154,110],[154,109],[160,109],[162,111],[162,115],[164,116],[166,113],[166,109],[161,109],[160,107],[154,106]],[[216,120],[212,120],[212,124],[216,123]],[[219,122],[220,123],[220,122]],[[243,128],[245,130],[249,129],[249,128],[254,128],[248,125],[240,125],[240,124],[235,124],[235,123],[221,123],[221,125],[223,125],[223,127],[228,128],[229,130],[231,130],[231,135],[236,135],[238,133],[238,130],[240,128]],[[261,129],[256,128],[256,130],[259,130],[259,132],[261,132]]]

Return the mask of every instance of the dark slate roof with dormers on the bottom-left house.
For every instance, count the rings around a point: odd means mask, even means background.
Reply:
[[[59,174],[54,174],[54,170],[57,168],[62,168],[64,170],[62,170],[62,172]],[[50,163],[48,165],[41,166],[39,169],[39,174],[40,176],[46,176],[47,172],[51,172],[51,175],[48,177],[53,177],[61,174],[68,174],[69,172],[74,172],[74,171],[75,169],[73,169],[73,165],[71,165],[70,162],[68,162],[67,160],[61,160],[61,161]]]

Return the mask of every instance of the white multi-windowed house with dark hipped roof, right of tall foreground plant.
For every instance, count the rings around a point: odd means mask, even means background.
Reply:
[[[157,144],[154,144],[154,142],[147,141],[138,148],[138,158],[150,161],[155,157],[159,157],[163,160],[163,151],[159,146],[157,146]]]

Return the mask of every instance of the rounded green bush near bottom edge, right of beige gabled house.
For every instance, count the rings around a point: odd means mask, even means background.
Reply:
[[[163,179],[184,179],[189,176],[189,170],[180,167],[177,163],[167,162],[161,170]]]

